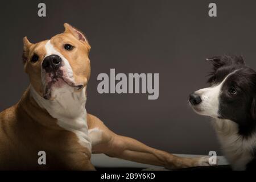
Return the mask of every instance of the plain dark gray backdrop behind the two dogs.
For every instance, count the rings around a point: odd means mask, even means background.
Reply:
[[[38,3],[47,17],[37,15]],[[0,82],[3,110],[17,102],[29,82],[22,66],[22,38],[51,38],[68,22],[92,46],[89,113],[115,133],[174,153],[208,154],[220,148],[209,118],[193,113],[188,94],[207,86],[205,57],[242,54],[256,68],[255,1],[5,1],[0,7]],[[159,73],[159,98],[147,94],[98,94],[97,75]]]

